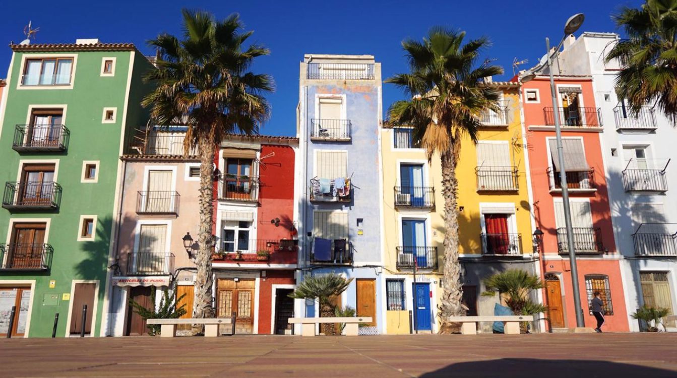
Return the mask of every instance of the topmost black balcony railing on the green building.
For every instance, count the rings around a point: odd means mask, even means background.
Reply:
[[[70,131],[64,125],[16,125],[12,149],[18,152],[63,152],[68,148]]]

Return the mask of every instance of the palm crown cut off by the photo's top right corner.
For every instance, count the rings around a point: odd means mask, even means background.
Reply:
[[[619,98],[628,101],[634,115],[655,102],[677,123],[677,0],[647,0],[639,9],[621,8],[612,18],[628,36],[606,57],[623,66],[616,77]]]

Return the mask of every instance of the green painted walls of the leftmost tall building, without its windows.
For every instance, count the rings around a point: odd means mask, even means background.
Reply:
[[[17,180],[22,160],[31,163],[58,160],[55,181],[62,186],[60,208],[56,211],[0,209],[0,243],[9,240],[12,220],[51,219],[45,237],[45,243],[53,248],[49,270],[0,270],[0,288],[12,287],[12,281],[16,280],[35,280],[28,337],[50,337],[56,313],[60,316],[56,335],[68,335],[66,324],[72,298],[64,300],[64,293],[71,293],[73,280],[98,281],[91,334],[101,335],[102,315],[108,312],[104,308],[107,306],[104,297],[110,245],[114,238],[121,140],[125,140],[127,137],[123,138],[123,134],[129,134],[134,127],[145,125],[148,117],[148,112],[140,106],[141,98],[148,92],[148,86],[142,83],[141,77],[152,65],[135,47],[96,44],[85,49],[78,45],[65,46],[58,51],[53,51],[53,48],[46,50],[40,45],[31,47],[30,51],[22,51],[25,47],[13,47],[14,55],[5,87],[7,93],[3,94],[1,105],[0,161],[3,164],[0,182],[3,186],[5,182]],[[18,89],[24,55],[77,56],[73,87]],[[104,58],[115,58],[112,77],[101,75]],[[130,60],[133,60],[131,64]],[[29,106],[57,108],[62,105],[65,106],[62,123],[70,130],[65,152],[17,152],[12,149],[15,127],[27,123]],[[114,123],[102,122],[104,108],[116,108]],[[83,161],[100,162],[97,182],[81,182]],[[93,241],[78,240],[81,215],[97,216]],[[51,280],[56,284],[53,288],[50,288]],[[45,301],[49,295],[56,295],[56,302],[53,299]],[[92,313],[89,309],[88,316]]]

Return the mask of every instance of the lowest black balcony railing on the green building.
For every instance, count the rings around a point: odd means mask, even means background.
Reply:
[[[0,270],[49,270],[53,249],[49,244],[0,245]]]

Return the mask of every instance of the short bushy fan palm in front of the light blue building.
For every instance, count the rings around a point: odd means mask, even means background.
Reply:
[[[334,315],[335,306],[332,303],[332,298],[348,289],[350,282],[353,282],[353,278],[343,278],[334,272],[318,276],[307,274],[303,277],[301,285],[289,297],[295,299],[318,299],[320,302],[320,317],[328,318]],[[334,335],[333,323],[322,325],[325,335]]]

